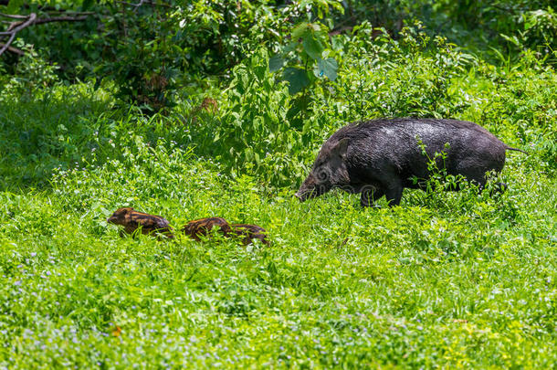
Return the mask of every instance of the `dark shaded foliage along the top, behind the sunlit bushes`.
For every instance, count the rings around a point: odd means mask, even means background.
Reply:
[[[226,83],[230,69],[262,44],[279,51],[270,63],[273,70],[286,63],[283,78],[290,81],[291,93],[312,86],[315,79],[335,79],[339,59],[329,46],[328,32],[332,37],[350,33],[363,22],[398,38],[405,24],[418,19],[430,37],[440,33],[457,43],[466,40],[475,51],[488,50],[501,60],[520,58],[531,48],[554,63],[557,35],[551,0],[154,0],[136,5],[57,0],[13,1],[0,5],[3,10],[48,16],[93,13],[82,22],[28,27],[15,45],[34,45],[40,58],[58,66],[61,79],[109,84],[122,100],[146,111],[188,99],[208,77]],[[25,63],[18,58],[3,56],[8,73],[17,74],[16,65]],[[307,109],[310,97],[302,95],[290,119]]]

